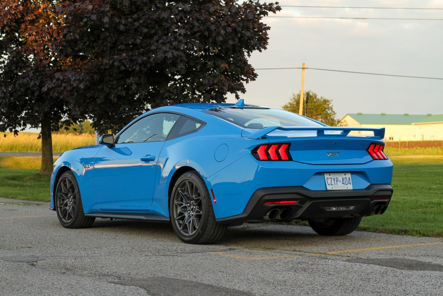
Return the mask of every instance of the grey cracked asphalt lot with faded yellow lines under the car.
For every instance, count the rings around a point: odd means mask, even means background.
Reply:
[[[443,239],[244,224],[187,245],[168,224],[64,229],[48,203],[0,198],[2,295],[443,295]]]

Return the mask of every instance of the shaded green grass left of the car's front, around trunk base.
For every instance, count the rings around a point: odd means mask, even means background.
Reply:
[[[49,180],[39,170],[0,169],[0,197],[25,201],[50,201]]]

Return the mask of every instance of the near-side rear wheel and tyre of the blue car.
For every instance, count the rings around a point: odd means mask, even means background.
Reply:
[[[169,214],[175,234],[188,244],[213,244],[228,227],[215,221],[209,191],[195,171],[184,173],[175,182]]]

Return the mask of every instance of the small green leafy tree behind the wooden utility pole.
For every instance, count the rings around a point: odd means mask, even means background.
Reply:
[[[329,126],[338,126],[340,120],[335,118],[335,111],[332,106],[332,100],[322,96],[318,97],[313,91],[306,91],[304,95],[303,115],[326,123]],[[282,107],[286,111],[299,113],[300,92],[292,94],[289,102]]]

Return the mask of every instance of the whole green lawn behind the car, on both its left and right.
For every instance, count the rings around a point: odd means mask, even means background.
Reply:
[[[9,169],[39,163],[0,157],[0,197],[49,201],[50,176],[38,169]],[[443,237],[443,156],[392,156],[394,194],[383,215],[364,217],[358,230]],[[294,224],[307,224],[293,221]]]

